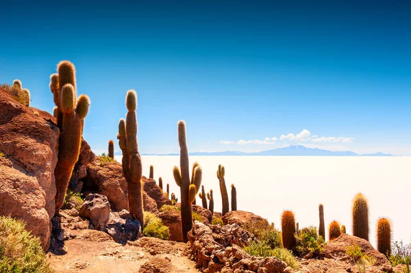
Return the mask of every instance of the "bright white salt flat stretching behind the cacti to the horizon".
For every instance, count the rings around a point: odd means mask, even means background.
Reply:
[[[121,161],[121,155],[116,155]],[[281,228],[282,211],[295,213],[300,229],[319,226],[319,203],[324,205],[327,226],[333,220],[345,224],[351,232],[352,200],[362,192],[369,202],[370,242],[376,246],[375,227],[381,217],[392,222],[393,242],[410,244],[411,157],[324,157],[324,156],[190,156],[190,168],[198,161],[203,169],[206,192],[214,191],[214,211],[221,211],[221,194],[216,170],[225,166],[227,190],[234,183],[238,210],[251,211]],[[164,187],[179,198],[179,187],[173,178],[173,166],[179,166],[174,155],[142,155],[142,173],[154,179],[162,177]],[[231,200],[231,196],[229,195]],[[197,204],[201,200],[197,196]],[[231,209],[231,208],[230,208]]]

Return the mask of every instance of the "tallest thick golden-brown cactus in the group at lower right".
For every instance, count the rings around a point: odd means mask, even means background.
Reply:
[[[369,207],[366,198],[357,194],[353,200],[353,235],[369,240]]]

